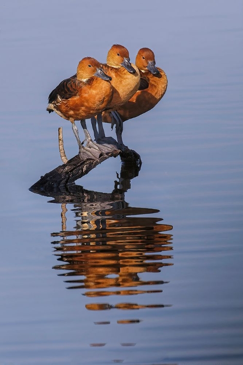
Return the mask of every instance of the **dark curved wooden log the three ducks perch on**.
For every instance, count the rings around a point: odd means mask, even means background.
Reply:
[[[62,164],[54,170],[46,173],[44,176],[41,176],[40,180],[30,187],[30,191],[39,194],[41,191],[54,193],[56,190],[64,186],[74,184],[76,180],[87,175],[89,171],[108,158],[117,157],[118,155],[120,155],[122,163],[141,165],[139,154],[128,148],[123,151],[115,149],[106,155],[102,155],[99,160],[81,160],[79,155],[76,155],[66,164]]]

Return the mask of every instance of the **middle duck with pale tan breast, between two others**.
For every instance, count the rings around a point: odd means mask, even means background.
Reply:
[[[113,98],[105,108],[107,112],[110,112],[112,110],[117,110],[121,105],[126,103],[139,89],[140,74],[137,66],[130,63],[128,50],[120,44],[114,44],[110,48],[106,61],[107,63],[102,64],[101,66],[104,73],[112,78],[111,85],[113,86]],[[97,122],[99,133],[96,129],[96,119],[91,118],[96,142],[110,141],[110,138],[106,138],[104,135],[101,114],[97,115]],[[119,135],[119,129],[121,128],[119,120],[116,120],[115,123],[116,131]]]

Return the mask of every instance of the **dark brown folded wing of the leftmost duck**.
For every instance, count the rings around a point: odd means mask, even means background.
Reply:
[[[73,75],[62,82],[50,93],[48,97],[48,102],[52,103],[56,100],[57,95],[62,99],[69,99],[72,96],[77,95],[80,88],[82,88],[83,82],[79,81],[76,75]]]

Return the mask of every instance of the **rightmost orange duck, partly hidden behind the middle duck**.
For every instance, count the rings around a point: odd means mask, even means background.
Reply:
[[[139,90],[127,103],[116,111],[112,111],[111,115],[109,110],[104,111],[102,113],[103,122],[113,123],[114,118],[122,123],[156,106],[165,94],[168,81],[164,71],[155,64],[154,52],[149,48],[141,48],[136,56],[136,66],[140,72]],[[119,144],[123,144],[120,130],[118,130],[117,140]]]

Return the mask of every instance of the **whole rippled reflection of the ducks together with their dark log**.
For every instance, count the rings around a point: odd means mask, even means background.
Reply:
[[[65,271],[60,276],[67,278],[67,289],[80,289],[89,298],[162,292],[165,281],[141,274],[158,273],[164,266],[173,265],[172,235],[168,233],[173,226],[150,216],[159,210],[131,207],[125,201],[125,192],[139,169],[138,164],[122,164],[111,193],[88,191],[77,185],[56,192],[51,202],[61,203],[62,230],[52,233],[52,237],[60,238],[52,242],[60,262],[53,269]],[[76,220],[71,231],[66,229],[67,203],[73,203],[71,211]],[[138,310],[165,306],[92,302],[86,308]]]

